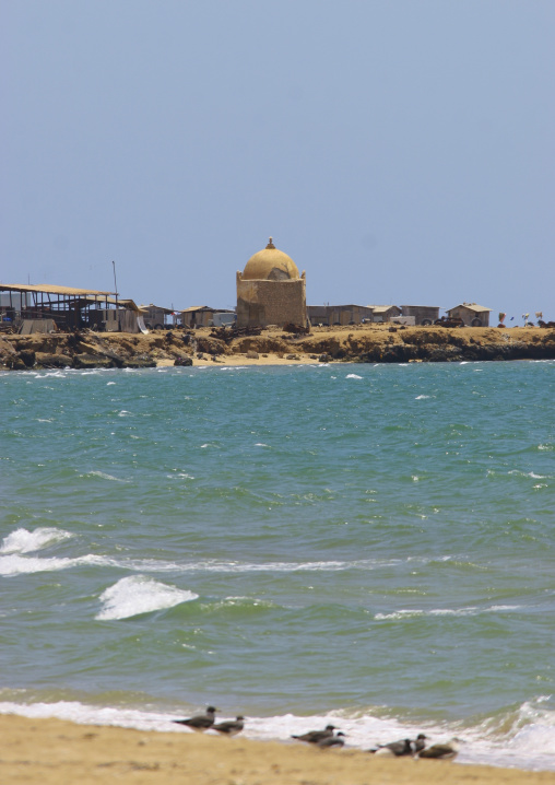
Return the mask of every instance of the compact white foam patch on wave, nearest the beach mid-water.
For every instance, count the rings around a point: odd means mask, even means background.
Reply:
[[[173,608],[181,602],[197,599],[193,591],[178,589],[158,583],[144,575],[121,578],[101,595],[104,606],[95,619],[99,621],[129,619],[139,613],[150,613],[164,608]]]

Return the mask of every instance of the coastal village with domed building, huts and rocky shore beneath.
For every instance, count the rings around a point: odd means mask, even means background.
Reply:
[[[236,291],[234,311],[175,309],[118,292],[0,283],[0,367],[555,358],[555,323],[541,313],[509,330],[506,314],[491,326],[492,308],[468,302],[441,316],[437,305],[307,305],[306,272],[272,237],[237,271]]]

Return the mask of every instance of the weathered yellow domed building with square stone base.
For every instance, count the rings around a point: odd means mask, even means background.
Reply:
[[[306,278],[293,259],[270,242],[237,271],[237,327],[307,321]]]

